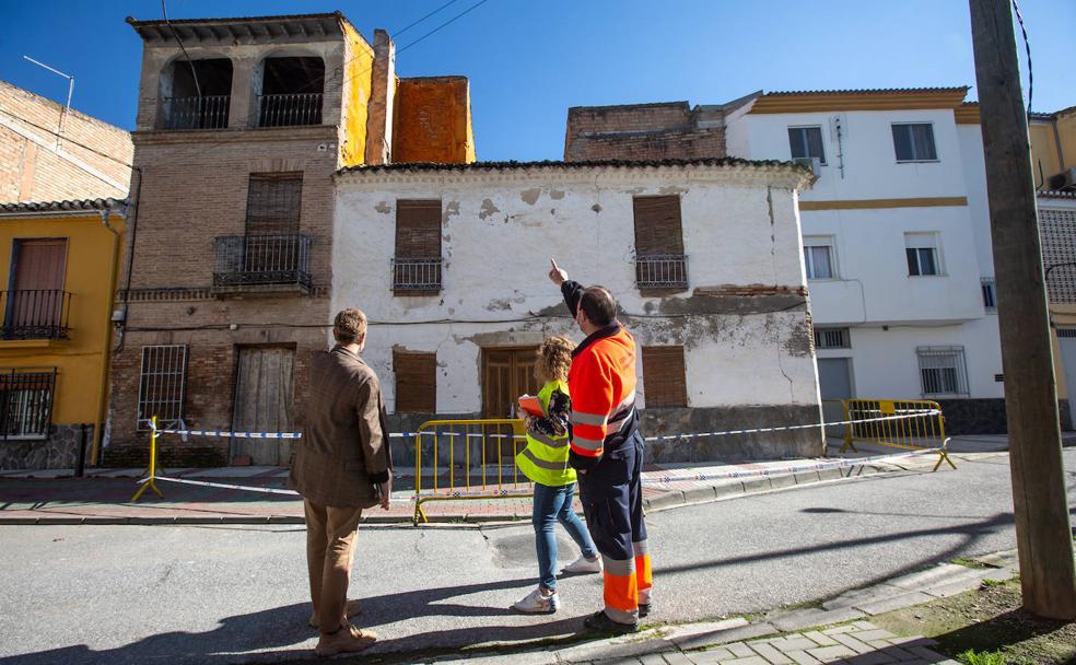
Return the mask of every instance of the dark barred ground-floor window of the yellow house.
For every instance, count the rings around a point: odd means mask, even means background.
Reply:
[[[52,424],[56,369],[27,372],[8,369],[0,374],[0,438],[46,439]]]

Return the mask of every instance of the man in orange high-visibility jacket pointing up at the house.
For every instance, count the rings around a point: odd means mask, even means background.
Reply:
[[[594,631],[639,629],[651,611],[651,559],[643,521],[643,438],[635,412],[635,340],[617,320],[604,287],[583,288],[551,261],[549,279],[586,335],[572,352],[569,463],[578,471],[587,528],[601,555],[605,608],[584,621]]]

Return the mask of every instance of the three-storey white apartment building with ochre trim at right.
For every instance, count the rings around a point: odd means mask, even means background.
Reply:
[[[727,153],[795,160],[823,398],[939,401],[952,432],[1004,431],[978,107],[966,88],[757,94]]]

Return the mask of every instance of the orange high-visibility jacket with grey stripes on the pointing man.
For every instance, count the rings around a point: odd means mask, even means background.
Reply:
[[[600,457],[635,407],[635,340],[623,326],[583,348],[572,360],[572,444],[576,455]],[[597,335],[597,334],[595,334]]]

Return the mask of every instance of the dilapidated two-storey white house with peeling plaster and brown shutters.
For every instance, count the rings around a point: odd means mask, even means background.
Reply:
[[[641,351],[645,435],[818,422],[796,206],[810,179],[787,162],[738,159],[344,168],[332,310],[370,318],[364,358],[394,429],[434,413],[507,417],[537,389],[541,340],[582,340],[550,257],[617,296]],[[653,452],[802,457],[822,440],[800,429]]]

